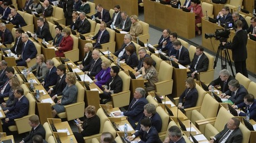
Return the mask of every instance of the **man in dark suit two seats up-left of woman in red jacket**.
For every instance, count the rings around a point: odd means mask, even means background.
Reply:
[[[49,28],[47,28],[46,25],[43,24],[42,17],[37,18],[37,26],[38,28],[36,34],[38,38],[45,39],[45,41],[50,41],[53,39]]]

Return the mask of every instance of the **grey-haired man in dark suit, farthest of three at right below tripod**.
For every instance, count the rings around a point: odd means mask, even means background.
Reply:
[[[225,93],[225,91],[229,90],[229,81],[233,79],[235,78],[229,74],[229,71],[227,69],[220,70],[219,78],[211,81],[211,83],[208,85],[208,88],[209,90],[211,90],[211,86],[214,86],[215,88],[220,86],[220,91],[222,91],[222,93]]]

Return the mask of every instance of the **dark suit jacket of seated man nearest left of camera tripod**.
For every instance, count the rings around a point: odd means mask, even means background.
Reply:
[[[208,65],[209,65],[209,59],[207,58],[207,56],[203,53],[198,61],[198,64],[196,64],[197,57],[198,56],[194,54],[194,58],[192,62],[189,64],[190,69],[193,69],[194,71],[197,70],[198,73],[207,71]],[[195,69],[195,64],[196,64],[196,69]]]

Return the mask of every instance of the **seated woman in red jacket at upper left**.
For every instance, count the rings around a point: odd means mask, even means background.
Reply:
[[[70,36],[71,32],[68,29],[63,29],[63,38],[59,47],[56,47],[58,51],[55,52],[56,57],[65,57],[64,52],[72,50],[73,48],[73,39]]]

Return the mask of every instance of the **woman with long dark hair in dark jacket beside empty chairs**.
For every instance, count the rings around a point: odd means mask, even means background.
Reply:
[[[193,78],[186,79],[186,89],[180,95],[178,108],[186,109],[196,105],[198,101],[198,90],[195,88],[195,80]]]

